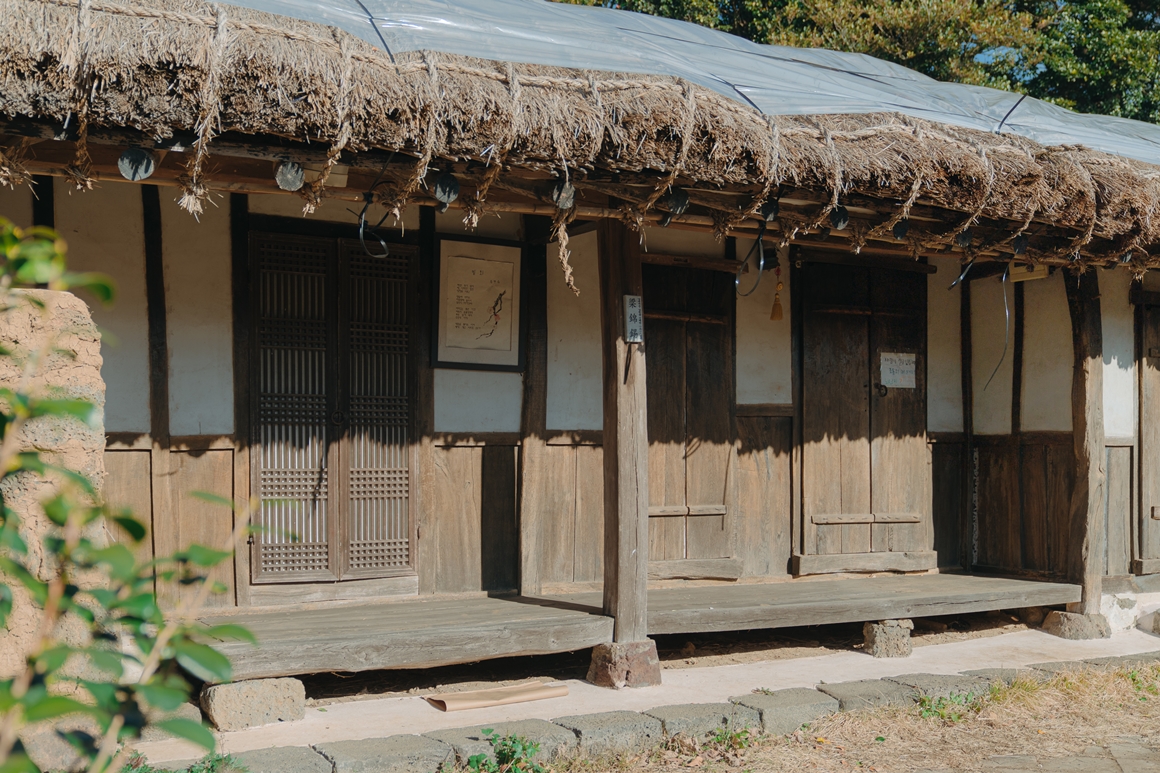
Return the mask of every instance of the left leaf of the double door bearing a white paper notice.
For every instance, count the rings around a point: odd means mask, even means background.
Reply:
[[[802,507],[807,552],[844,552],[847,546],[869,550],[869,523],[813,523],[815,515],[871,512],[868,325],[865,315],[806,315]]]

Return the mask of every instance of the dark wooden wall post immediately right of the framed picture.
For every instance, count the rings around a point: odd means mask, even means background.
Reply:
[[[520,416],[520,593],[541,592],[542,519],[548,487],[548,241],[552,221],[523,216],[527,246],[523,261],[527,286],[523,297],[528,324],[523,373],[523,407]]]

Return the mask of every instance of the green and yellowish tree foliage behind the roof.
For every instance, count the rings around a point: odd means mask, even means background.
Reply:
[[[563,0],[1160,123],[1160,0]]]

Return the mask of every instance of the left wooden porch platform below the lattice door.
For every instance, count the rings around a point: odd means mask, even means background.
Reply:
[[[237,623],[259,646],[220,642],[234,679],[328,671],[426,669],[516,655],[548,655],[612,641],[595,607],[528,597],[432,599],[205,616]]]

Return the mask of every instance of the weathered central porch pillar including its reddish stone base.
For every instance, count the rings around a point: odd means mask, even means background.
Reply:
[[[624,335],[624,296],[641,294],[640,237],[601,221],[600,308],[604,381],[604,614],[612,643],[593,651],[589,681],[606,687],[660,684],[648,634],[648,427],[645,345]]]

